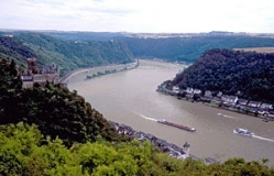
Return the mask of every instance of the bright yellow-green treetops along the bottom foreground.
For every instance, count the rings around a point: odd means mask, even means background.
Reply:
[[[75,143],[67,148],[59,139],[44,138],[36,125],[0,125],[0,175],[91,175],[91,176],[177,176],[177,175],[265,175],[273,167],[259,162],[231,158],[206,165],[200,161],[169,157],[149,142]]]

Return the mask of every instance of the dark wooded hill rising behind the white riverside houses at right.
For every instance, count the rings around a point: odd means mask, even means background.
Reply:
[[[172,85],[222,91],[242,98],[274,102],[274,54],[215,48],[207,51]]]

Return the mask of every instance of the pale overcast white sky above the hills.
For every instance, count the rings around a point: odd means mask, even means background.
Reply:
[[[274,1],[0,0],[0,29],[274,33]]]

